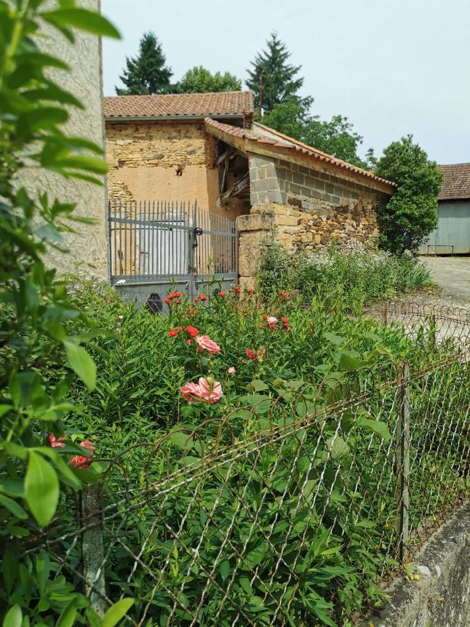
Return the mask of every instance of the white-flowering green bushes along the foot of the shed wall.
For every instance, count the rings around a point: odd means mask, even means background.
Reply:
[[[290,256],[279,245],[267,247],[258,269],[258,286],[268,296],[294,290],[304,302],[320,297],[355,304],[430,284],[430,272],[409,256],[384,251],[340,249]]]

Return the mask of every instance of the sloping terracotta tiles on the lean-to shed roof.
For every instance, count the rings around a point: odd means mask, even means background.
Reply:
[[[274,152],[279,151],[285,153],[285,150],[289,150],[292,153],[300,153],[301,155],[313,157],[319,162],[323,162],[324,164],[328,164],[336,168],[345,169],[348,173],[359,176],[363,179],[363,185],[368,184],[365,180],[368,179],[369,182],[374,181],[375,183],[379,183],[382,188],[388,187],[390,194],[393,194],[395,187],[397,187],[395,183],[391,183],[391,181],[385,180],[384,178],[379,178],[369,170],[364,170],[347,163],[346,161],[327,155],[327,153],[322,153],[321,150],[312,148],[312,146],[307,146],[307,144],[303,144],[301,141],[292,139],[292,137],[288,137],[287,135],[275,131],[272,128],[264,126],[263,124],[253,123],[251,130],[246,130],[234,127],[230,124],[212,120],[211,118],[205,118],[205,127],[208,132],[214,130],[226,135],[228,143],[230,143],[230,136],[234,138],[239,137],[240,139],[254,141],[260,147],[269,146],[274,150]],[[250,146],[251,151],[256,152],[256,144],[255,146]]]

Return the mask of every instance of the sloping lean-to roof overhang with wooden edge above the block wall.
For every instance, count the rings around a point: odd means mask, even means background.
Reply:
[[[314,167],[325,173],[334,173],[334,176],[345,180],[360,183],[363,187],[374,189],[382,194],[391,196],[397,185],[389,180],[379,178],[368,170],[363,170],[350,163],[337,159],[311,146],[287,137],[269,127],[253,123],[253,130],[230,127],[218,123],[212,118],[205,119],[205,130],[217,139],[234,146],[245,155],[263,155],[282,159],[291,163]]]

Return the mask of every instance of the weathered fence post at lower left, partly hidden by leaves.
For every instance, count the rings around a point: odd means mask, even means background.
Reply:
[[[104,548],[102,529],[102,483],[86,486],[80,492],[81,525],[86,527],[81,534],[81,559],[85,579],[85,594],[90,605],[100,616],[104,616],[107,603],[104,599]]]

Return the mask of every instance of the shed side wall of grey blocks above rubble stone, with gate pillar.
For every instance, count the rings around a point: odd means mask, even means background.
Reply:
[[[265,244],[292,251],[320,249],[333,240],[375,245],[375,210],[386,194],[272,157],[249,155],[251,213],[237,219],[240,282],[252,285]]]

